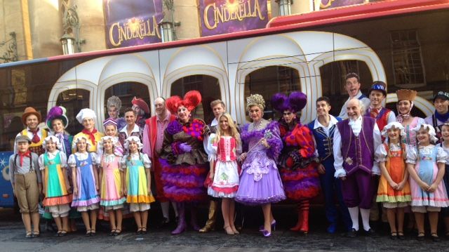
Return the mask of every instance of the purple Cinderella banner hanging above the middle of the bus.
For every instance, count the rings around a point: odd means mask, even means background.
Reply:
[[[264,28],[267,0],[199,0],[201,35]]]

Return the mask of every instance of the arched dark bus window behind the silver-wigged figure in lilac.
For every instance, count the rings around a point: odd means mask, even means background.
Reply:
[[[283,66],[270,66],[250,72],[245,78],[245,97],[258,93],[265,100],[264,119],[279,119],[271,105],[272,95],[275,93],[290,94],[301,91],[300,74],[297,69]],[[246,105],[245,105],[246,108]],[[248,113],[246,119],[249,121]]]

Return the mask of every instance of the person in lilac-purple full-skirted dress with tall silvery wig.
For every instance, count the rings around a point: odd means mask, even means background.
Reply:
[[[253,123],[241,129],[243,164],[236,201],[246,205],[260,205],[264,213],[264,225],[260,231],[264,237],[272,235],[272,203],[286,199],[276,159],[282,149],[279,128],[276,121],[262,118],[265,107],[262,95],[254,94],[246,98],[246,110]],[[273,226],[274,227],[274,226]]]

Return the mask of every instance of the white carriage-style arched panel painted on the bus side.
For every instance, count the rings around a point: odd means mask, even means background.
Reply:
[[[307,122],[316,116],[314,101],[323,94],[322,87],[326,85],[321,80],[320,67],[340,60],[364,62],[373,80],[386,81],[380,58],[362,41],[331,32],[289,32],[90,60],[70,69],[58,79],[48,98],[48,108],[57,104],[58,96],[64,91],[76,88],[86,90],[89,94],[86,98],[88,107],[98,112],[97,126],[100,128],[100,121],[105,119],[108,88],[130,82],[142,84],[146,94],[130,95],[147,97],[151,103],[158,96],[168,97],[185,92],[175,86],[177,80],[205,75],[213,77],[216,84],[204,86],[203,96],[224,100],[233,117],[243,123],[246,121],[246,96],[259,92],[267,98],[267,95],[280,91],[276,85],[263,86],[260,90],[250,89],[245,84],[248,74],[264,67],[283,66],[298,73],[298,89],[307,93],[308,105],[301,116],[301,121]],[[393,101],[394,95],[389,95],[387,102]],[[203,102],[203,113],[207,110],[206,106],[208,104]],[[417,100],[416,106],[422,112],[431,114],[432,105],[427,100]]]

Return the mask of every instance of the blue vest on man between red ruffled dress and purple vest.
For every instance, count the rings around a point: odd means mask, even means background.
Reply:
[[[340,117],[335,117],[337,121],[342,121]],[[318,120],[318,119],[315,119]],[[319,154],[319,159],[321,161],[325,161],[326,159],[332,158],[333,159],[333,142],[334,142],[334,131],[335,126],[333,125],[330,127],[329,130],[329,136],[326,135],[326,132],[322,127],[314,128],[315,120],[311,121],[307,126],[309,126],[312,133],[314,133],[314,138],[316,142],[316,150]]]

